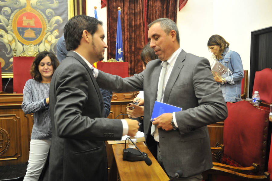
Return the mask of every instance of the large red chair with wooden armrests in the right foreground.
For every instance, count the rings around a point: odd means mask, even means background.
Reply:
[[[268,180],[265,157],[269,111],[247,101],[228,102],[227,107],[224,145],[214,148],[218,152],[213,154],[221,163],[213,162],[213,168],[203,177],[218,181]]]

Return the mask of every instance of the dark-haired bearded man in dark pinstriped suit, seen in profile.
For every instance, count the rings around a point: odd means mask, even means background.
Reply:
[[[52,144],[44,180],[107,180],[104,140],[134,136],[138,121],[107,119],[92,64],[103,60],[107,45],[102,22],[86,15],[64,27],[68,50],[50,83]],[[48,177],[48,178],[47,178]]]

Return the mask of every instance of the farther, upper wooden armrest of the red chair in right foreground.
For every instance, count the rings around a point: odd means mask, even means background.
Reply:
[[[235,172],[244,173],[244,174],[254,173],[254,172],[259,171],[259,169],[260,169],[260,166],[256,163],[253,163],[252,166],[249,166],[249,167],[230,166],[230,165],[226,165],[223,163],[217,163],[217,162],[212,162],[212,165],[216,166],[216,167],[232,170]]]

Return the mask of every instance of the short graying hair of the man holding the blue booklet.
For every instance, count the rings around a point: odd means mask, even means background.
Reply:
[[[148,24],[148,28],[150,28],[153,24],[155,23],[160,23],[160,27],[161,29],[166,33],[169,34],[170,31],[175,30],[176,31],[176,40],[178,41],[178,43],[180,44],[180,34],[179,34],[179,30],[176,26],[176,23],[169,19],[169,18],[159,18],[156,19],[155,21],[153,21],[152,23]]]

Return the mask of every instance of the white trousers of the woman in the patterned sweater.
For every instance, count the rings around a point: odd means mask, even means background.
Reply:
[[[51,138],[46,140],[31,140],[28,158],[28,168],[24,181],[38,181],[47,159]]]

